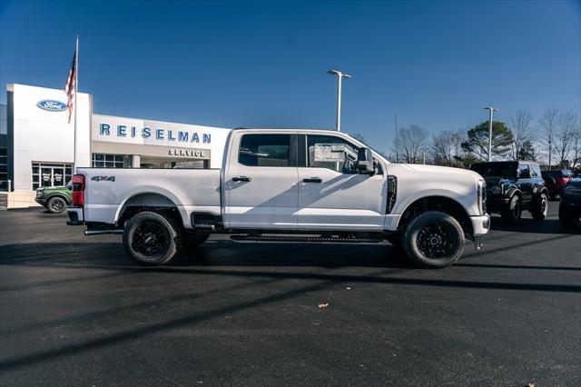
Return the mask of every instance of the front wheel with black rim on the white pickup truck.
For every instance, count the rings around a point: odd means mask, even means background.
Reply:
[[[441,269],[462,256],[464,232],[448,213],[419,213],[404,231],[402,245],[412,263],[428,269]]]

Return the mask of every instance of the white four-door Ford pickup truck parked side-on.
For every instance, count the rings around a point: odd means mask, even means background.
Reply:
[[[234,129],[222,169],[78,168],[71,225],[121,233],[136,262],[168,263],[211,233],[287,242],[388,240],[421,267],[487,233],[486,186],[456,168],[389,164],[348,134]],[[189,241],[189,243],[185,243]]]

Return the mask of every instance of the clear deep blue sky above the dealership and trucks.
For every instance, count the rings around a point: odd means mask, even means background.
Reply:
[[[388,150],[518,109],[581,114],[581,2],[0,3],[0,84],[61,88],[80,35],[94,112],[212,126],[342,129]],[[0,102],[5,103],[5,92]]]

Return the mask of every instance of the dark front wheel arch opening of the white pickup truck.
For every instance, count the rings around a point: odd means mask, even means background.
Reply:
[[[474,233],[472,221],[464,206],[448,196],[441,195],[424,196],[410,203],[399,217],[398,231],[402,231],[416,214],[426,211],[448,213],[458,221],[464,233],[468,235]]]

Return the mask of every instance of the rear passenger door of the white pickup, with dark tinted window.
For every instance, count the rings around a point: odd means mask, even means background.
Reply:
[[[224,188],[232,228],[297,227],[297,167],[291,134],[243,134]],[[292,146],[296,152],[296,146]]]

